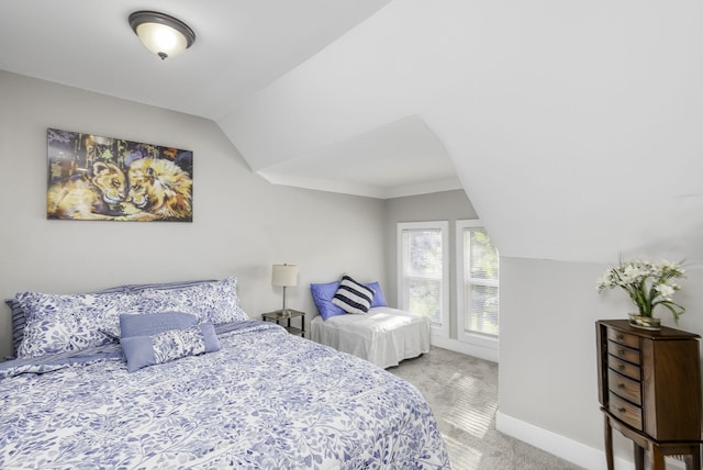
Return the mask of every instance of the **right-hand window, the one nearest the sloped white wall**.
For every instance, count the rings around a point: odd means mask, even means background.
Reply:
[[[498,339],[499,256],[480,221],[457,221],[458,339]]]

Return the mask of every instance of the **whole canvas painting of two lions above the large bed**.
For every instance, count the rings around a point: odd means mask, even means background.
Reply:
[[[192,222],[192,152],[57,128],[47,144],[47,219]]]

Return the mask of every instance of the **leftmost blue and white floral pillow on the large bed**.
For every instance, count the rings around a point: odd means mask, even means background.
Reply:
[[[136,311],[126,293],[47,294],[20,292],[26,325],[18,348],[21,359],[101,346],[113,339],[103,331],[118,328],[119,315]]]

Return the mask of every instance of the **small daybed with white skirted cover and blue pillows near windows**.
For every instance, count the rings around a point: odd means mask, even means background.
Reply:
[[[345,278],[342,282],[311,284],[313,300],[320,312],[310,324],[312,340],[360,357],[383,369],[429,352],[429,318],[387,306],[378,282],[362,284],[372,293],[368,309],[365,309],[366,305],[359,306],[358,302],[364,303],[364,300],[357,295],[364,295],[364,292],[356,290],[358,284],[355,286],[354,280],[350,289],[355,290],[358,310],[352,313],[344,302],[336,299],[339,287],[352,279]]]

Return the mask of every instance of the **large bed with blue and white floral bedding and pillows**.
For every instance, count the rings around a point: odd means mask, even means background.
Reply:
[[[164,286],[9,302],[0,468],[449,468],[409,382],[249,320],[232,278]]]

